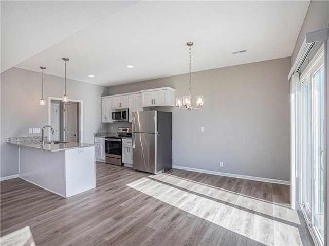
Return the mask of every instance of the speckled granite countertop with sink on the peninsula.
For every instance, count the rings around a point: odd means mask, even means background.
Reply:
[[[47,139],[45,139],[47,141]],[[60,143],[60,144],[48,144],[45,143],[44,145],[41,144],[41,137],[20,137],[20,138],[6,138],[6,143],[15,145],[15,146],[23,146],[28,148],[35,148],[40,150],[45,150],[49,152],[58,152],[67,149],[74,149],[74,148],[85,148],[94,146],[94,144],[89,143]]]

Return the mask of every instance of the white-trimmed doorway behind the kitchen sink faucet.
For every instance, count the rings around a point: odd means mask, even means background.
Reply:
[[[83,101],[70,99],[69,103],[63,103],[61,98],[49,97],[48,102],[50,102],[48,105],[48,124],[53,126],[56,121],[59,122],[58,139],[54,139],[57,137],[55,128],[55,134],[51,134],[50,128],[48,128],[48,136],[51,136],[52,140],[82,143]],[[56,119],[56,107],[58,107],[58,119]]]

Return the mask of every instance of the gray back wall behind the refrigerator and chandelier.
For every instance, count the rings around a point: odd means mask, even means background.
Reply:
[[[289,181],[289,69],[283,58],[193,73],[192,97],[203,94],[203,108],[158,109],[173,113],[173,165]],[[188,74],[113,86],[108,94],[165,86],[175,97],[188,94]]]

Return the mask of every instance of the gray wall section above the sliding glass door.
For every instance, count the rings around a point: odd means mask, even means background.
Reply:
[[[291,66],[294,64],[298,51],[305,39],[307,32],[314,32],[329,27],[329,1],[311,1],[299,32],[293,54]]]

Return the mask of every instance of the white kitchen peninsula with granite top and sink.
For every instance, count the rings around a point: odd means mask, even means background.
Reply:
[[[85,143],[44,145],[41,137],[6,138],[18,146],[19,177],[62,197],[96,187],[95,146]]]

